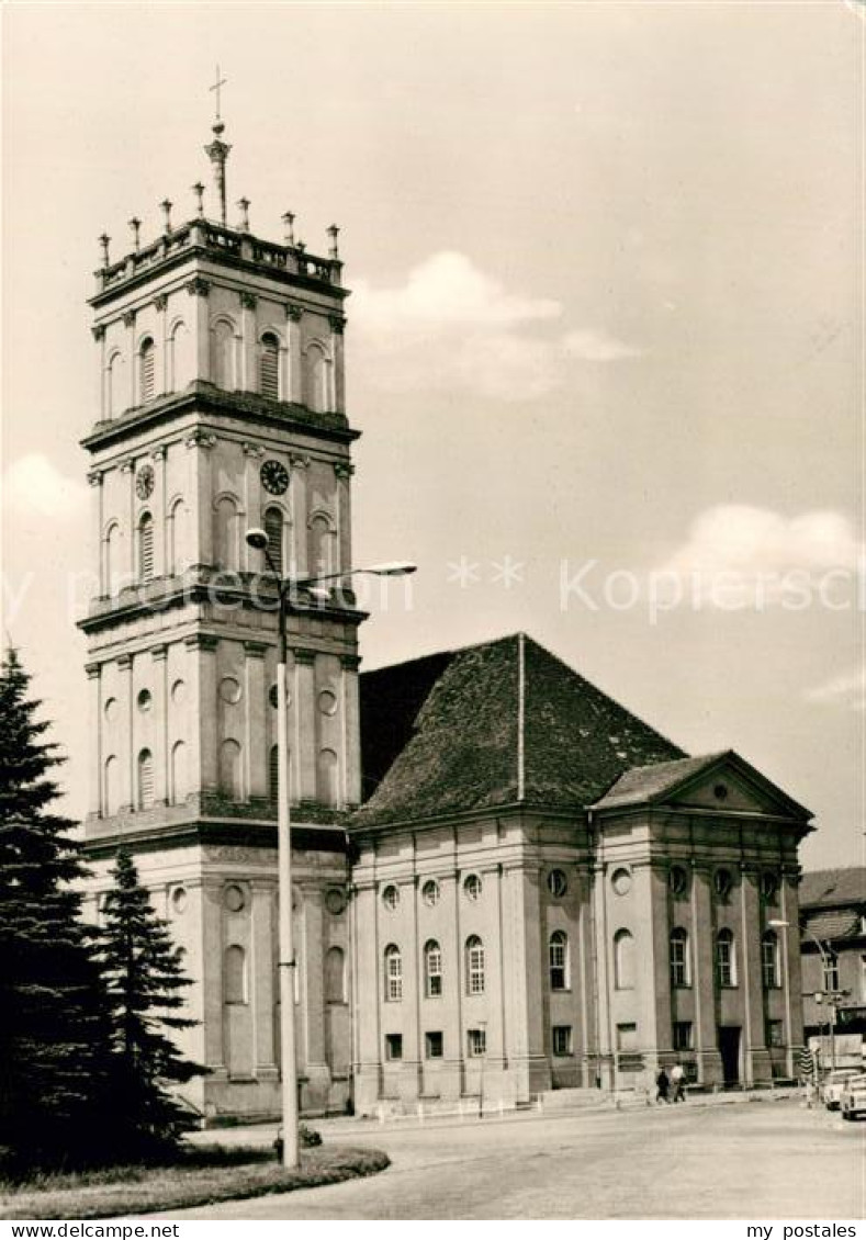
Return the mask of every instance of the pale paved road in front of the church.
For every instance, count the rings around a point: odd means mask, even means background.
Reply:
[[[861,1219],[866,1123],[797,1102],[488,1118],[355,1131],[387,1149],[371,1179],[182,1219]]]

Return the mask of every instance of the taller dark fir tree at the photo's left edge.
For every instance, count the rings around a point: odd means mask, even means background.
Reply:
[[[109,1027],[81,920],[74,823],[51,812],[65,759],[43,739],[30,677],[0,668],[0,1161],[97,1159],[105,1140]]]

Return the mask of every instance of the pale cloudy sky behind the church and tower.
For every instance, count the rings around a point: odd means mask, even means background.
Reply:
[[[522,629],[864,862],[857,0],[7,4],[4,625],[87,804],[99,262],[228,201],[341,227],[366,667]],[[207,206],[207,203],[206,203]],[[230,222],[231,222],[230,207]]]

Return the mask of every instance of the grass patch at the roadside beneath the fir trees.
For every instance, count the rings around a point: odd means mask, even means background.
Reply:
[[[17,1184],[0,1180],[0,1214],[4,1219],[108,1219],[119,1214],[155,1214],[337,1184],[359,1176],[373,1176],[385,1171],[388,1163],[388,1156],[381,1149],[320,1146],[301,1152],[297,1171],[285,1171],[270,1149],[189,1146],[170,1166],[52,1172]]]

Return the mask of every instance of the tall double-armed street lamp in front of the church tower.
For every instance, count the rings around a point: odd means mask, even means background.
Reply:
[[[264,552],[268,568],[279,582],[279,650],[277,656],[277,890],[279,899],[278,956],[279,956],[279,1045],[282,1060],[283,1094],[283,1166],[292,1169],[299,1162],[298,1147],[298,1061],[295,1055],[294,1021],[294,968],[295,955],[292,934],[292,816],[289,808],[289,755],[287,735],[285,665],[288,661],[288,618],[292,610],[292,590],[305,589],[315,593],[323,582],[334,582],[359,573],[373,577],[406,577],[416,572],[416,565],[406,562],[371,564],[370,568],[350,568],[345,573],[325,573],[321,577],[283,578],[273,562],[268,536],[264,529],[247,529],[247,546]]]

